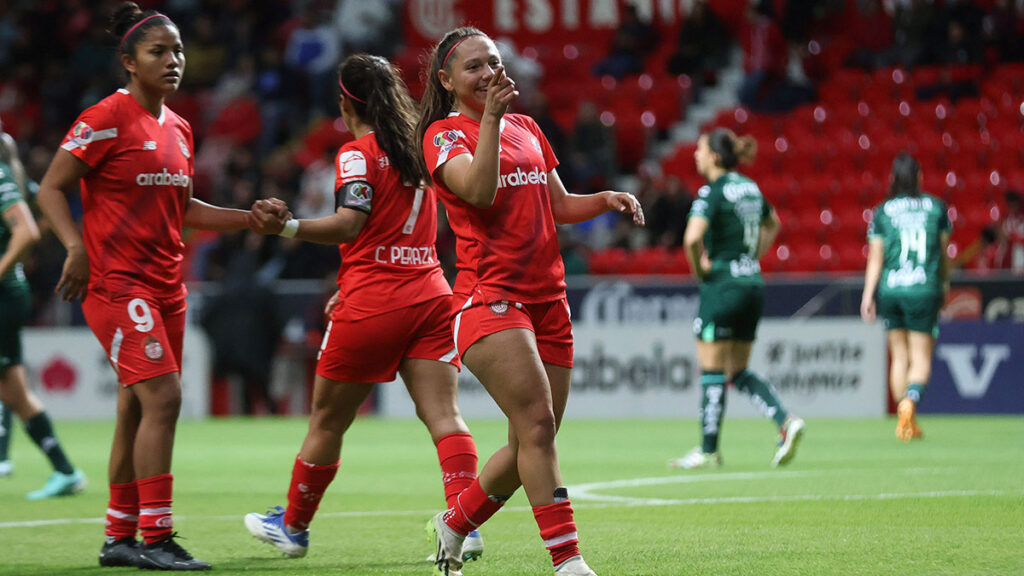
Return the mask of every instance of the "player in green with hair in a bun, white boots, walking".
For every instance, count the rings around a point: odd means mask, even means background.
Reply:
[[[697,139],[697,172],[708,180],[693,202],[683,236],[690,270],[700,280],[700,308],[693,321],[700,364],[700,446],[670,466],[696,468],[722,462],[719,430],[725,416],[725,385],[731,381],[775,420],[779,440],[772,466],[793,459],[804,421],[788,414],[771,383],[746,366],[764,307],[759,259],[781,225],[761,189],[735,171],[750,163],[757,141],[718,128]]]

